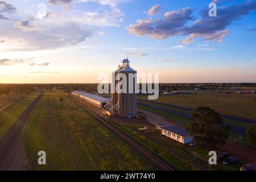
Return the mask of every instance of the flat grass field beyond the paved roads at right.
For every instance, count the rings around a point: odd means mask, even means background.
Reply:
[[[147,96],[139,96],[138,98],[147,100]],[[220,98],[223,98],[222,103],[220,103]],[[221,114],[256,120],[256,94],[202,93],[173,95],[159,96],[156,101],[193,109],[199,106],[208,106]]]

